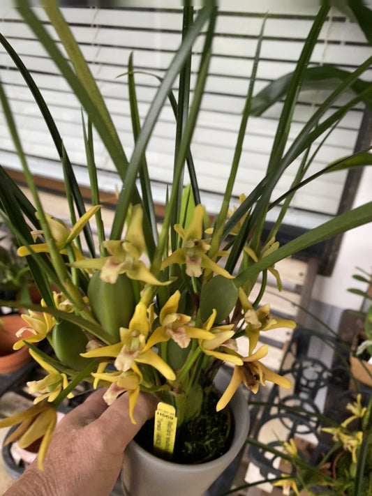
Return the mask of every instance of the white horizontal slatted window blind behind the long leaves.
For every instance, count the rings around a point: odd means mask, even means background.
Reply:
[[[202,200],[211,213],[218,210],[228,179],[263,17],[268,13],[255,93],[271,80],[295,69],[318,7],[316,0],[220,2],[206,93],[191,146],[199,186],[203,192]],[[35,10],[53,32],[43,9]],[[137,70],[164,75],[181,42],[181,10],[63,8],[62,12],[96,77],[126,154],[130,157],[133,137],[128,85],[125,76],[118,76],[126,72],[131,52]],[[80,104],[15,8],[0,7],[0,29],[31,71],[57,122],[77,178],[82,185],[88,185]],[[191,87],[195,84],[201,47],[202,39],[199,39],[194,47]],[[320,33],[311,65],[327,63],[351,71],[370,55],[371,47],[357,24],[350,22],[338,10],[332,10]],[[372,71],[369,70],[364,73],[363,79],[371,80],[371,75]],[[45,123],[29,89],[3,47],[0,47],[0,77],[10,97],[31,170],[36,174],[61,179],[61,166]],[[158,81],[143,74],[136,75],[135,80],[140,117],[143,120]],[[177,95],[177,87],[174,87],[174,92]],[[325,94],[325,90],[320,88],[302,91],[290,132],[291,138],[297,135]],[[265,175],[282,105],[277,103],[262,117],[252,117],[248,121],[248,133],[234,190],[236,196],[240,193],[248,194]],[[362,104],[358,105],[342,119],[322,146],[308,174],[352,152],[363,109]],[[161,112],[147,150],[154,200],[160,203],[165,200],[166,185],[172,181],[174,133],[174,116],[167,104]],[[100,187],[112,191],[115,185],[119,185],[119,179],[98,138],[95,153]],[[3,167],[20,170],[2,112],[0,163]],[[298,163],[288,168],[274,190],[273,199],[290,188]],[[345,178],[346,172],[327,174],[299,190],[286,222],[311,227],[333,216],[338,209]],[[275,216],[275,212],[272,215]]]

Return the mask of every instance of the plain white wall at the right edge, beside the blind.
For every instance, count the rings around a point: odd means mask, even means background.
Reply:
[[[355,197],[354,206],[372,200],[372,167],[366,167]],[[341,249],[338,253],[332,276],[318,276],[313,288],[313,299],[340,308],[359,310],[362,296],[348,292],[350,287],[366,290],[366,285],[352,279],[359,266],[372,271],[372,223],[357,227],[343,235]]]

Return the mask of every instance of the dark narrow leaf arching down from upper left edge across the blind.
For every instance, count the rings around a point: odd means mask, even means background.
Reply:
[[[18,54],[15,52],[15,50],[10,45],[10,43],[8,43],[8,40],[6,40],[6,38],[4,38],[1,35],[1,33],[0,33],[0,43],[6,49],[11,59],[13,59],[15,66],[17,66],[17,69],[20,71],[20,74],[24,78],[24,81],[27,83],[27,86],[29,87],[32,95],[34,96],[34,100],[38,105],[41,114],[43,115],[44,121],[50,132],[54,145],[56,146],[57,153],[59,154],[59,158],[61,158],[62,164],[64,166],[64,174],[68,179],[68,183],[70,185],[71,193],[75,200],[77,211],[80,216],[83,216],[85,213],[84,200],[82,199],[79,186],[77,185],[77,181],[75,178],[75,174],[73,172],[73,167],[70,163],[70,159],[68,158],[68,154],[64,149],[61,135],[59,134],[58,128],[54,122],[52,114],[50,113],[50,110],[47,107],[47,104],[45,103],[43,95],[40,93],[40,90],[38,89],[38,86],[35,83],[33,77],[29,73],[29,70],[27,70],[27,67],[24,65],[20,57],[18,57]],[[84,226],[84,234],[89,251],[91,253],[94,253],[94,241],[89,224]]]

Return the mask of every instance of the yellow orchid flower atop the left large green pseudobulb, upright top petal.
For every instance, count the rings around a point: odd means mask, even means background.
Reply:
[[[70,266],[77,269],[101,270],[101,279],[105,283],[114,284],[119,274],[126,274],[128,278],[141,280],[157,286],[165,286],[172,281],[162,283],[147,269],[140,260],[144,252],[144,234],[142,230],[143,211],[142,206],[133,206],[131,220],[124,241],[104,241],[103,247],[110,253],[110,257],[91,258],[77,260]]]

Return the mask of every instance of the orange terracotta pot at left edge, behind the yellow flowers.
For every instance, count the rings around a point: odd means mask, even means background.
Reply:
[[[13,350],[13,345],[20,340],[15,335],[26,322],[20,315],[4,315],[0,319],[0,374],[7,374],[24,366],[31,361],[29,349],[23,346],[20,350]],[[32,336],[31,332],[25,331],[24,338]]]

